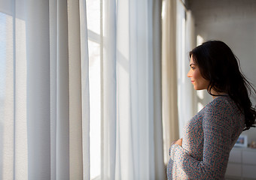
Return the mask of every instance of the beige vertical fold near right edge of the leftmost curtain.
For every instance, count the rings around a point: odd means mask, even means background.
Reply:
[[[68,1],[69,22],[69,164],[70,179],[83,178],[83,118],[82,118],[82,84],[87,82],[87,76],[83,78],[81,65],[81,33],[80,16],[84,17],[84,5],[79,1]],[[81,8],[80,8],[81,7]],[[83,21],[83,20],[81,20]],[[85,35],[85,34],[84,34]],[[87,42],[87,40],[85,40]],[[86,47],[84,47],[86,48]],[[84,80],[85,79],[85,80]],[[84,80],[84,81],[82,81]],[[85,122],[86,120],[84,120]],[[88,142],[89,144],[89,142]],[[87,174],[87,173],[86,173]],[[88,179],[88,177],[87,177]]]

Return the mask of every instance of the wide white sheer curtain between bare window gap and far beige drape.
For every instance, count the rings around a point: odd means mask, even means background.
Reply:
[[[161,2],[104,7],[102,179],[163,179]]]

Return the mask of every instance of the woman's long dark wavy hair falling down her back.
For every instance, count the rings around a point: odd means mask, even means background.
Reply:
[[[249,96],[255,89],[239,69],[239,59],[226,43],[210,40],[190,51],[203,78],[209,80],[207,91],[227,93],[245,115],[245,128],[255,127],[256,110]]]

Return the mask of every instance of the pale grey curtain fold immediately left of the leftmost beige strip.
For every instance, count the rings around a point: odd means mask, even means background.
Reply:
[[[56,179],[69,177],[69,44],[67,1],[56,9]],[[53,59],[54,61],[55,59]]]

